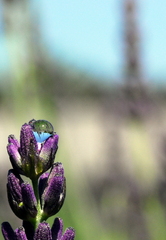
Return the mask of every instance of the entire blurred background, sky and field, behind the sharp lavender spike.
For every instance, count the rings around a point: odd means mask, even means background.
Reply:
[[[57,216],[76,240],[166,239],[165,23],[164,1],[0,2],[1,222],[21,225],[7,137],[46,119],[67,177]]]

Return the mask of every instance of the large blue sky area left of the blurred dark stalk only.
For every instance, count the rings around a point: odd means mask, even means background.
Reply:
[[[109,76],[119,66],[120,40],[116,1],[43,1],[44,41],[60,59],[88,72]],[[110,17],[114,12],[115,19]],[[47,20],[51,22],[48,28]],[[113,33],[113,34],[112,34]],[[119,46],[114,51],[114,46]],[[52,42],[55,48],[52,49]],[[111,67],[112,65],[112,67]],[[117,70],[116,70],[117,72]],[[116,73],[115,73],[116,74]]]

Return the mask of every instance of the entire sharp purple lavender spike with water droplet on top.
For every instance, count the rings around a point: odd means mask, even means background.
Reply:
[[[73,240],[75,231],[63,234],[63,221],[56,218],[52,228],[45,221],[59,212],[66,196],[66,179],[62,163],[54,163],[58,135],[51,123],[31,120],[21,128],[20,143],[10,135],[7,151],[13,169],[7,177],[7,196],[14,214],[23,226],[12,229],[2,224],[5,240]],[[49,170],[47,172],[47,170]],[[32,185],[21,175],[30,178]]]

